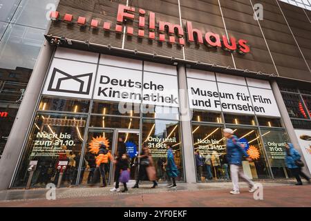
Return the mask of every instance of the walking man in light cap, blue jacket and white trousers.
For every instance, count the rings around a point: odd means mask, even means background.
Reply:
[[[230,128],[225,128],[223,130],[223,135],[227,139],[227,161],[230,166],[230,175],[233,184],[233,190],[230,191],[231,194],[240,193],[238,189],[238,177],[241,177],[249,186],[249,193],[256,191],[254,187],[254,182],[247,177],[242,169],[242,157],[245,156],[246,160],[249,162],[252,159],[246,153],[243,144],[238,142],[238,137],[234,135],[234,131]]]

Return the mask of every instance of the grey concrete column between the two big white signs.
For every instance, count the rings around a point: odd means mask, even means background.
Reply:
[[[194,148],[192,143],[191,113],[189,111],[189,98],[187,93],[187,76],[185,65],[178,64],[177,69],[185,178],[186,182],[191,183],[196,182],[196,167],[194,165]]]

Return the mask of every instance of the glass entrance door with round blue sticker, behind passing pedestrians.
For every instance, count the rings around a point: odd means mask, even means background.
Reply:
[[[122,140],[122,141],[121,141]],[[129,155],[129,161],[131,166],[131,180],[135,180],[135,176],[138,175],[138,166],[135,166],[136,155],[140,151],[140,133],[139,130],[116,130],[113,155],[117,155],[117,146],[120,142],[124,142],[126,146],[126,153]],[[111,169],[111,180],[109,184],[115,182],[115,165]]]

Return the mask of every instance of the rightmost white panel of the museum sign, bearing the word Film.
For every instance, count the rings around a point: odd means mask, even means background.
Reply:
[[[258,107],[254,108],[256,115],[281,117],[272,90],[249,87],[249,93],[253,105]]]

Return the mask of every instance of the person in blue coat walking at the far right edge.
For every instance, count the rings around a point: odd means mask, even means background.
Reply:
[[[296,178],[297,182],[295,185],[302,185],[301,178],[305,178],[305,180],[308,181],[310,184],[310,177],[308,175],[305,175],[302,171],[303,163],[300,161],[301,155],[298,153],[298,151],[295,150],[294,145],[291,143],[285,144],[286,148],[286,157],[285,157],[285,163],[288,166],[288,169],[292,172],[292,175]]]

